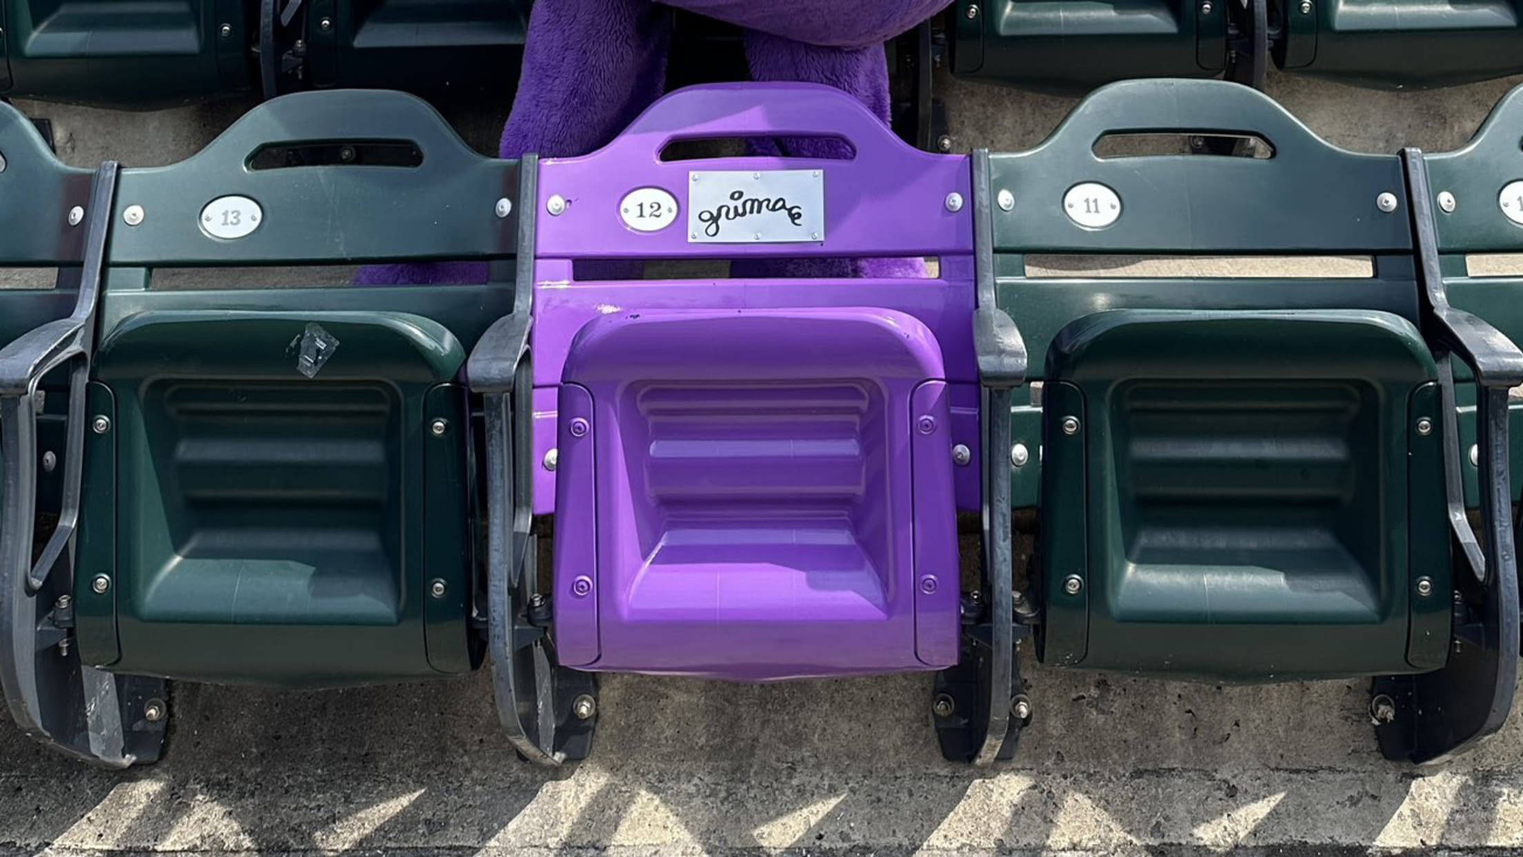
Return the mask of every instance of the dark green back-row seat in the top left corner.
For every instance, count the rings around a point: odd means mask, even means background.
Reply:
[[[8,0],[0,94],[169,107],[248,90],[257,3]]]

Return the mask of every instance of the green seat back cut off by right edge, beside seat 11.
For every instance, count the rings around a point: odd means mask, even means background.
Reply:
[[[1429,186],[1426,199],[1438,227],[1439,265],[1450,303],[1489,321],[1514,342],[1523,342],[1523,268],[1514,254],[1523,253],[1523,90],[1512,90],[1482,125],[1468,145],[1444,154],[1427,155]],[[1447,193],[1451,210],[1439,204]],[[1517,219],[1514,219],[1517,218]],[[1474,257],[1474,260],[1471,260]],[[1474,272],[1471,272],[1474,269]],[[1464,449],[1476,443],[1476,388],[1471,373],[1456,364],[1459,432]],[[1511,403],[1512,501],[1523,487],[1523,402]],[[1465,458],[1465,502],[1479,507],[1476,461]]]

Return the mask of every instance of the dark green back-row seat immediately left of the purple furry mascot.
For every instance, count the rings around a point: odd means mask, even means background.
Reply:
[[[314,87],[381,87],[429,97],[512,94],[530,0],[308,5],[308,70]]]

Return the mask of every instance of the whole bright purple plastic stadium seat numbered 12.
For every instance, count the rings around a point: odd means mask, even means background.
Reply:
[[[835,135],[851,160],[663,161]],[[955,195],[955,196],[953,196]],[[541,161],[536,513],[564,665],[774,680],[956,662],[978,508],[969,161],[804,84],[667,96]],[[579,260],[940,259],[935,279],[577,280]],[[553,455],[551,455],[553,452]]]

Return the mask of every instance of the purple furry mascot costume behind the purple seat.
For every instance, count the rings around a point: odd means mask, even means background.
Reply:
[[[755,81],[804,81],[845,90],[885,123],[889,116],[883,43],[950,0],[669,0],[745,27]],[[539,0],[528,20],[524,68],[500,155],[585,155],[612,140],[661,96],[667,9],[652,0]],[[783,142],[786,154],[839,157],[835,142]],[[742,269],[745,268],[745,269]],[[739,276],[920,276],[918,260],[868,259],[736,265]],[[483,263],[364,268],[364,285],[480,283]]]

